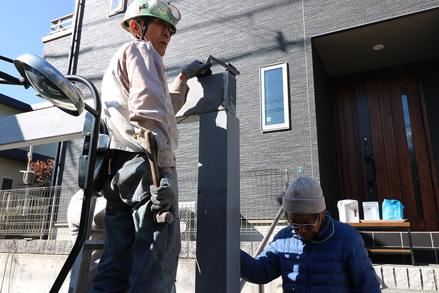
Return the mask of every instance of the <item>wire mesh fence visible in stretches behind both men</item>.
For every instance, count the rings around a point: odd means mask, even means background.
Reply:
[[[241,234],[263,234],[279,211],[289,182],[298,176],[292,169],[254,170],[240,174]],[[198,176],[181,175],[179,210],[182,240],[197,237]],[[60,197],[70,199],[76,185],[0,190],[0,236],[52,238],[59,211]],[[68,205],[68,201],[62,201]],[[65,223],[63,223],[65,224]],[[279,225],[284,225],[280,221]]]

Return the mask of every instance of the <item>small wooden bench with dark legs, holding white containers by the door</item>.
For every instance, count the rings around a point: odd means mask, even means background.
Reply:
[[[411,243],[411,234],[410,234],[410,222],[404,220],[404,222],[397,221],[386,221],[386,220],[376,220],[371,222],[360,222],[360,223],[347,223],[354,227],[355,229],[406,229],[408,234],[408,245],[410,249],[403,248],[377,248],[377,247],[367,247],[367,250],[372,253],[402,253],[402,254],[410,254],[411,256],[411,264],[414,265],[414,256],[413,256],[413,246]],[[402,244],[402,243],[401,243]]]

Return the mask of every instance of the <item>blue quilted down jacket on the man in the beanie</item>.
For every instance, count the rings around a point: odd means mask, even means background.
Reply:
[[[325,211],[312,241],[292,233],[291,227],[282,229],[256,259],[241,251],[241,278],[266,284],[282,275],[284,292],[381,292],[355,228]]]

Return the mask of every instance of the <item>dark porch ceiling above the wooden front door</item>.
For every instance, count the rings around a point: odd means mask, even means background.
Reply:
[[[329,77],[439,58],[439,7],[314,36],[312,43]]]

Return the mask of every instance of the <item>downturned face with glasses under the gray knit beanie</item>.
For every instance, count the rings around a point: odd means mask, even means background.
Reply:
[[[308,224],[307,226],[299,226],[299,228],[292,228],[294,233],[300,235],[305,240],[311,240],[319,232],[322,226],[322,218],[324,212],[321,212],[317,219],[313,214],[297,214],[292,212],[287,212],[288,223],[295,225]],[[315,226],[313,226],[315,224]]]

